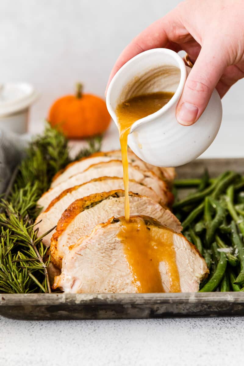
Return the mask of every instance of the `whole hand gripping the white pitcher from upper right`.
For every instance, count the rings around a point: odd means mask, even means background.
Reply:
[[[194,67],[176,109],[179,123],[195,123],[214,88],[222,98],[244,77],[243,0],[188,0],[146,28],[124,49],[108,85],[125,62],[152,48],[184,50]],[[108,88],[107,85],[107,88]]]

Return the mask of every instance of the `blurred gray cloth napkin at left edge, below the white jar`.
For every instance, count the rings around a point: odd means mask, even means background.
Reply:
[[[28,134],[17,135],[14,132],[0,130],[0,193],[4,193],[15,167],[25,156],[30,142]]]

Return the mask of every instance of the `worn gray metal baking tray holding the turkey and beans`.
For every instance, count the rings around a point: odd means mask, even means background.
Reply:
[[[177,168],[178,178],[244,173],[244,158],[199,159]],[[196,294],[0,294],[0,315],[26,320],[127,319],[244,315],[244,292]]]

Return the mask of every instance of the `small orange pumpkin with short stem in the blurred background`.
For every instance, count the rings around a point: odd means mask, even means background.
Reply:
[[[105,101],[92,94],[82,94],[82,84],[77,84],[76,95],[62,97],[49,111],[49,123],[60,126],[69,138],[100,135],[110,123]]]

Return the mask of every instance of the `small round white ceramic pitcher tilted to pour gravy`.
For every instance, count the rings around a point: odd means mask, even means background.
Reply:
[[[106,103],[116,124],[116,107],[128,98],[157,91],[174,93],[164,107],[132,124],[128,145],[147,163],[159,167],[186,164],[202,154],[218,133],[222,104],[216,90],[195,124],[181,126],[176,120],[176,106],[190,71],[176,52],[157,48],[129,60],[109,85]]]

